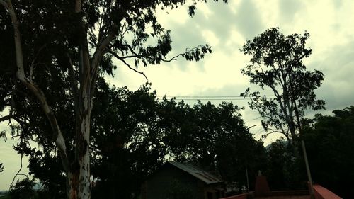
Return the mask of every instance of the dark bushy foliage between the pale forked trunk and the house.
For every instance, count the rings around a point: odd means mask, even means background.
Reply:
[[[159,102],[146,84],[137,91],[113,88],[98,92],[93,109],[92,174],[98,180],[93,198],[137,196],[144,178],[164,161]],[[103,97],[105,96],[105,97]]]

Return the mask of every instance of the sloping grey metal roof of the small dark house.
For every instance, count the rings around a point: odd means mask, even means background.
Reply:
[[[213,176],[207,171],[198,168],[197,166],[194,166],[193,164],[181,163],[176,161],[168,161],[167,163],[176,166],[178,169],[182,169],[183,171],[188,172],[188,174],[195,176],[195,178],[198,178],[200,179],[200,181],[203,181],[207,184],[223,182],[221,179],[217,178],[216,176]]]

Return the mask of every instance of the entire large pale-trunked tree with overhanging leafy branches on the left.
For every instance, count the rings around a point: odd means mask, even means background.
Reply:
[[[20,125],[33,119],[30,114],[18,114],[30,111],[24,107],[32,104],[42,109],[45,117],[37,119],[46,118],[42,123],[51,128],[51,133],[36,136],[58,149],[67,198],[90,198],[89,145],[96,81],[104,73],[113,74],[113,57],[135,71],[127,59],[133,59],[136,67],[140,62],[147,66],[171,61],[165,58],[171,50],[169,30],[159,25],[154,12],[161,7],[175,8],[185,1],[0,0],[0,4],[4,8],[0,10],[1,44],[8,44],[0,50],[0,68],[4,72],[1,107],[10,106],[8,118]],[[190,15],[194,10],[195,5],[190,6]],[[156,46],[145,45],[149,35],[156,38]],[[198,61],[207,52],[211,52],[210,47],[203,45],[180,56]],[[22,101],[16,103],[19,93]],[[65,129],[57,118],[62,108],[56,108],[58,96],[68,97],[71,102],[74,129]]]

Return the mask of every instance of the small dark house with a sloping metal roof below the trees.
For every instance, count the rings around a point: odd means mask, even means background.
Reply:
[[[147,178],[142,199],[217,199],[224,181],[189,163],[168,161]]]

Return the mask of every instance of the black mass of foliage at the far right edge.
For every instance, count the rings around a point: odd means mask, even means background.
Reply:
[[[315,115],[304,127],[312,179],[343,198],[352,196],[354,106]]]

